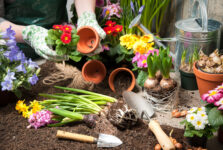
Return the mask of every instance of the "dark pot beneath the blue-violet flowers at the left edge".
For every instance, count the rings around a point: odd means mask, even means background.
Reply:
[[[0,106],[7,105],[8,103],[16,102],[18,100],[16,95],[9,91],[0,91],[0,97]]]

